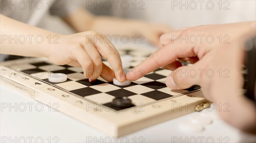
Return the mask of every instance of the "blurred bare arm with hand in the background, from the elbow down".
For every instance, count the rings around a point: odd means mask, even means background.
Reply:
[[[163,24],[111,16],[95,16],[81,7],[62,19],[77,32],[96,31],[104,35],[127,35],[129,37],[142,35],[148,42],[156,46],[159,45],[159,38],[162,34],[172,31],[171,28]]]

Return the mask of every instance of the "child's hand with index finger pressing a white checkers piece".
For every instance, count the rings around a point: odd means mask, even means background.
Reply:
[[[72,35],[60,35],[58,44],[51,44],[47,56],[54,64],[81,67],[89,81],[99,76],[107,81],[114,77],[125,81],[118,51],[103,35],[86,31]],[[102,63],[101,56],[108,60],[113,70]]]

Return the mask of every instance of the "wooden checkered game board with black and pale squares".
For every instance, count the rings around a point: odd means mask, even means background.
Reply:
[[[151,52],[128,49],[119,51],[121,55],[133,56],[131,68]],[[102,78],[90,83],[81,68],[54,65],[44,58],[3,62],[0,69],[1,84],[46,105],[54,105],[53,108],[112,136],[126,135],[209,105],[199,86],[186,90],[166,87],[164,81],[169,70],[157,69],[122,87]],[[68,80],[62,83],[48,81],[49,74],[54,73],[65,73]],[[133,105],[127,108],[111,106],[110,102],[117,96],[128,96]]]

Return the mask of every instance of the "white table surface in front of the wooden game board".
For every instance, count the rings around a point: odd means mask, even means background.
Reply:
[[[10,143],[11,140],[23,142],[24,139],[28,143],[41,143],[41,140],[45,143],[54,143],[57,139],[58,143],[99,143],[109,142],[110,139],[111,142],[121,143],[139,143],[142,139],[144,143],[184,143],[195,141],[208,143],[256,142],[256,136],[240,132],[222,120],[214,120],[213,123],[205,126],[202,132],[181,131],[179,129],[180,122],[187,120],[192,114],[199,114],[198,112],[150,126],[129,135],[119,137],[116,141],[115,137],[108,136],[94,129],[92,126],[81,123],[62,112],[53,112],[51,108],[49,111],[47,105],[34,101],[3,85],[0,85],[0,102],[0,142],[5,140],[7,143]],[[4,108],[6,104],[8,107]],[[29,104],[31,107],[29,107]],[[14,107],[11,108],[11,106]],[[17,111],[15,111],[15,108]]]

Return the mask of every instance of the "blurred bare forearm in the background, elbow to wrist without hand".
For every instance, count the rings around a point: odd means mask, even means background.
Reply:
[[[77,32],[96,31],[102,34],[115,35],[125,34],[134,36],[141,33],[137,26],[143,27],[143,22],[138,20],[127,20],[110,16],[94,16],[89,11],[80,8],[74,14],[64,18]],[[129,30],[127,30],[129,27]]]

